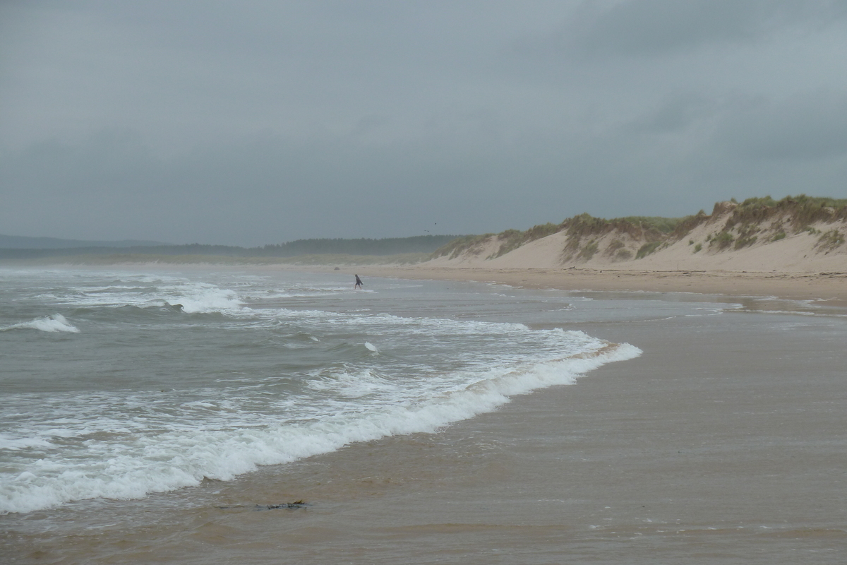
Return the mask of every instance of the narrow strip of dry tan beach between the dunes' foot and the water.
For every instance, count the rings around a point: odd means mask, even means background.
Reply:
[[[839,256],[840,257],[840,256]],[[826,301],[835,307],[847,307],[847,263],[839,258],[831,261],[800,262],[792,268],[756,270],[738,268],[715,268],[715,265],[700,261],[689,269],[679,268],[679,263],[650,261],[638,263],[609,263],[608,266],[513,266],[495,262],[433,259],[424,263],[397,264],[379,263],[267,263],[241,260],[237,263],[220,262],[215,258],[204,261],[158,262],[117,261],[114,263],[67,263],[56,262],[0,262],[5,268],[64,268],[64,269],[164,269],[164,270],[208,270],[256,272],[295,271],[303,273],[360,274],[363,277],[387,277],[405,280],[467,280],[499,283],[526,289],[555,289],[561,291],[650,291],[650,292],[693,292],[703,295],[726,296],[775,296],[789,300]],[[491,263],[491,264],[486,264]],[[530,264],[541,264],[530,261]],[[685,262],[682,262],[683,264]],[[753,265],[756,262],[751,262]],[[743,263],[741,263],[743,264]],[[367,281],[365,281],[367,283]]]

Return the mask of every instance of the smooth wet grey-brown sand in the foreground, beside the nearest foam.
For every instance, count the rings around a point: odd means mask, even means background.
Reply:
[[[565,329],[644,354],[437,434],[209,481],[200,507],[112,503],[131,529],[105,508],[3,547],[11,562],[845,562],[844,318]]]

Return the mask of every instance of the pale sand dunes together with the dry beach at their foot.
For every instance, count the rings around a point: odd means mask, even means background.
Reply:
[[[798,217],[797,208],[790,206],[754,212],[750,221],[749,210],[739,204],[718,202],[711,215],[692,217],[683,229],[668,234],[623,222],[566,221],[562,230],[512,251],[500,253],[514,242],[490,235],[425,263],[374,267],[370,273],[533,288],[768,295],[847,304],[844,208],[816,209],[806,217]]]

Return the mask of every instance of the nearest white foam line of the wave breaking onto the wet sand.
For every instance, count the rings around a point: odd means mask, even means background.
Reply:
[[[268,429],[172,431],[141,437],[143,457],[115,454],[97,466],[62,468],[42,460],[0,482],[0,512],[32,512],[92,498],[137,499],[151,493],[199,485],[203,478],[230,480],[258,465],[290,463],[302,457],[336,451],[358,441],[390,435],[431,433],[491,412],[522,395],[551,385],[573,384],[605,363],[638,357],[629,344],[607,344],[590,353],[491,369],[461,390],[417,405],[383,407],[370,413],[347,413],[309,425]]]

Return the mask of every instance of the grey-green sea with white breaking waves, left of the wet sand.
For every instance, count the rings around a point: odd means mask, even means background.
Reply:
[[[566,297],[352,280],[4,270],[0,512],[141,499],[432,432],[639,355],[510,321],[584,315]]]

